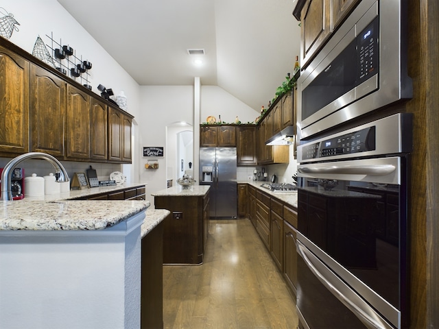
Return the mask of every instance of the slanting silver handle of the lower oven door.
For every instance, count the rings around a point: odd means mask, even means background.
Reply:
[[[372,307],[364,302],[364,300],[362,300],[361,297],[357,295],[357,293],[352,291],[352,289],[344,284],[342,280],[338,279],[335,274],[332,273],[332,271],[328,269],[316,256],[314,256],[299,240],[296,241],[296,246],[299,255],[303,258],[314,276],[316,276],[316,278],[318,278],[318,280],[322,282],[324,287],[331,291],[331,293],[335,297],[337,297],[340,302],[342,302],[347,308],[349,308],[367,328],[393,328],[392,326],[387,324]],[[310,260],[309,258],[313,258],[313,260]],[[331,278],[331,276],[335,276],[335,278]],[[346,296],[346,293],[343,293],[340,290],[350,292],[351,299],[355,299],[355,302],[348,298]]]

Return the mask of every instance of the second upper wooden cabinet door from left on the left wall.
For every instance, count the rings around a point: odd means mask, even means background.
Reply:
[[[56,75],[31,65],[29,120],[32,151],[64,157],[66,85]]]

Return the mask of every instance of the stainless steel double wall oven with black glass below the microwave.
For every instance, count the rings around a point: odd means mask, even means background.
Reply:
[[[411,147],[408,113],[298,146],[303,328],[407,328]]]

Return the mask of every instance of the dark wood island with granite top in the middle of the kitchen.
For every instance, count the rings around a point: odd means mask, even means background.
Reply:
[[[171,212],[164,222],[163,263],[200,265],[209,234],[209,188],[173,186],[152,194],[156,209]]]

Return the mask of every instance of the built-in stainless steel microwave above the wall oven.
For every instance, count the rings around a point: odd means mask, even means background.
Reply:
[[[359,1],[300,73],[300,140],[412,97],[405,2]]]

